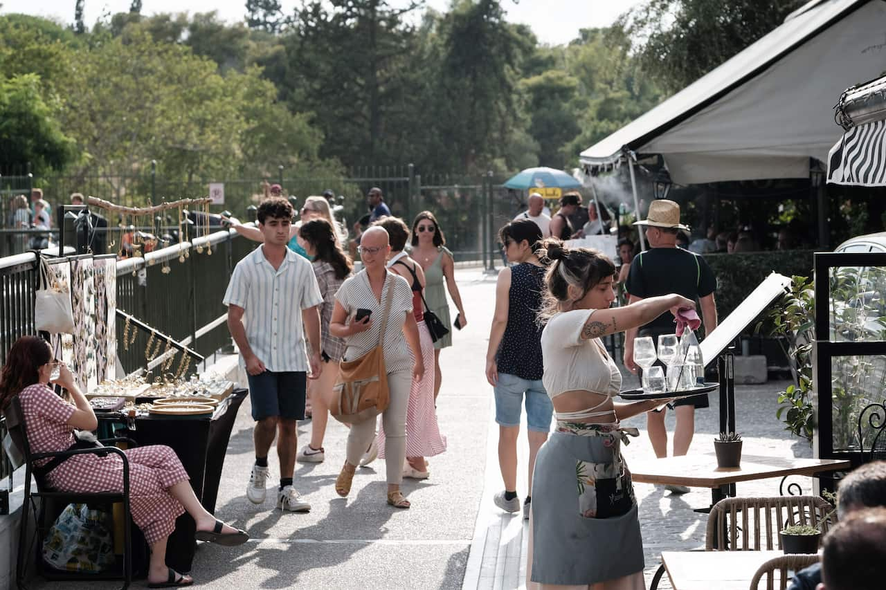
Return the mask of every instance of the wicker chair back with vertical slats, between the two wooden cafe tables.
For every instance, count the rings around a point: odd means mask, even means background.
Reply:
[[[834,507],[820,496],[726,498],[708,515],[705,550],[773,551],[781,549],[779,532],[790,524],[819,526],[822,534],[835,523],[825,518]]]

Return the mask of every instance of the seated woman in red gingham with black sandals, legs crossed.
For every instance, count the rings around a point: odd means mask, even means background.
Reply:
[[[51,381],[53,369],[58,378]],[[74,403],[62,400],[50,384],[61,385]],[[0,408],[5,411],[18,396],[32,453],[82,447],[74,430],[93,431],[98,421],[89,400],[64,363],[52,359],[50,345],[35,336],[15,341],[0,373]],[[148,587],[190,586],[193,578],[166,565],[167,538],[175,519],[187,511],[197,524],[197,540],[225,546],[249,540],[244,531],[216,520],[194,495],[182,462],[168,446],[138,446],[124,451],[129,462],[129,508],[132,520],[151,548]],[[35,462],[46,468],[51,459]],[[119,454],[78,454],[43,473],[53,490],[100,493],[123,489],[123,461]]]

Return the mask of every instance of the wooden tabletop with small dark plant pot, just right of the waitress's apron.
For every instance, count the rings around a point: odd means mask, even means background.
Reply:
[[[836,459],[797,459],[742,454],[741,467],[720,469],[713,453],[688,454],[664,459],[631,460],[627,467],[634,482],[711,488],[711,504],[735,495],[735,484],[769,477],[812,476],[851,469],[851,462]]]

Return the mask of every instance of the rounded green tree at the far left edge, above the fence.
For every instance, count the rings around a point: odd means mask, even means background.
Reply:
[[[74,142],[63,133],[57,108],[44,101],[35,74],[0,81],[0,171],[22,170],[27,163],[38,170],[65,167]]]

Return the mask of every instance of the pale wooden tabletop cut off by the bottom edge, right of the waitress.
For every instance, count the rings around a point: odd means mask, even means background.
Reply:
[[[781,551],[664,551],[662,562],[673,590],[748,590],[759,567],[781,555]]]

